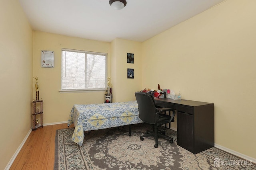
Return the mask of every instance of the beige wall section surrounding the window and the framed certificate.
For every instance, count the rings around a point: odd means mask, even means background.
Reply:
[[[104,92],[60,93],[61,49],[108,53],[110,75],[110,43],[34,31],[33,76],[38,76],[40,98],[44,100],[44,124],[68,121],[74,104],[104,103]],[[41,67],[41,50],[54,51],[54,68]],[[33,84],[36,80],[33,80]],[[33,98],[36,98],[33,86]]]

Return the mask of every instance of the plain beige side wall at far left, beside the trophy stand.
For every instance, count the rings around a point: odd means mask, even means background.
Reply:
[[[18,0],[0,0],[0,169],[31,129],[32,29]],[[9,162],[10,163],[10,162]]]

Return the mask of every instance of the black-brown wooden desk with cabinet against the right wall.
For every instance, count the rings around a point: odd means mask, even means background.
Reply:
[[[214,108],[212,103],[192,100],[156,99],[156,106],[177,111],[177,143],[196,154],[214,147]]]

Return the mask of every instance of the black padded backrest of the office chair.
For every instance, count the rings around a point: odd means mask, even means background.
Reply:
[[[155,100],[151,94],[136,92],[135,97],[139,107],[139,117],[145,123],[156,124],[158,110],[155,107]]]

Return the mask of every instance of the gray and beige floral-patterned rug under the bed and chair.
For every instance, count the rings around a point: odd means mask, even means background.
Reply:
[[[74,143],[74,128],[56,132],[54,170],[256,170],[250,160],[241,160],[215,147],[193,154],[177,145],[177,133],[166,129],[166,135],[174,139],[169,143],[159,139],[140,136],[148,125],[110,128],[85,133],[82,147]]]

